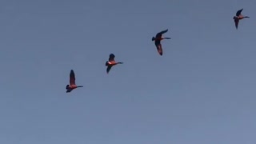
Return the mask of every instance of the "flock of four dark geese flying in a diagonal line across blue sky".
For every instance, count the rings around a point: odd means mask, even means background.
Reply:
[[[236,29],[238,30],[238,23],[240,20],[242,20],[243,18],[250,18],[248,16],[243,16],[242,10],[238,10],[237,13],[235,14],[235,16],[233,17],[234,19],[234,24]],[[164,38],[162,37],[162,34],[165,34],[167,30],[162,30],[161,32],[159,32],[158,34],[156,34],[155,37],[152,38],[152,41],[154,41],[154,45],[156,46],[157,50],[158,50],[158,54],[160,54],[162,56],[162,45],[161,45],[161,41],[163,39],[170,39],[170,38]],[[107,66],[106,68],[106,73],[109,74],[112,66],[118,65],[118,64],[123,64],[123,62],[116,62],[114,60],[115,55],[114,54],[110,54],[109,60],[105,63],[105,65]],[[66,85],[66,93],[70,93],[72,90],[77,89],[78,87],[83,87],[83,86],[77,86],[75,83],[75,74],[74,74],[74,70],[70,70],[70,84]]]

